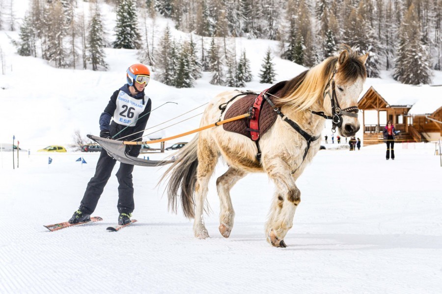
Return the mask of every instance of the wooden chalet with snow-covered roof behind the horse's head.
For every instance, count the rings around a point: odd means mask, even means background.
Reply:
[[[384,122],[393,122],[401,132],[399,142],[429,142],[442,137],[442,86],[379,84],[359,99],[363,145],[383,143]],[[377,111],[377,123],[366,124],[365,112]],[[385,117],[384,117],[385,116]]]

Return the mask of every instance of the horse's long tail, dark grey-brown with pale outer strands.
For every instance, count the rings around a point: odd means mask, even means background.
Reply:
[[[191,142],[182,147],[176,154],[176,160],[163,174],[160,182],[169,178],[166,185],[168,207],[177,212],[179,197],[184,215],[193,219],[195,206],[193,194],[196,184],[196,168],[198,166],[197,146],[199,134]]]

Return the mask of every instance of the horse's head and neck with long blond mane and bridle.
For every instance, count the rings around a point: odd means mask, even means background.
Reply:
[[[333,131],[337,127],[342,136],[350,137],[360,126],[358,97],[367,77],[368,54],[357,56],[349,46],[343,48],[339,56],[329,57],[288,81],[275,105],[324,113],[333,118]]]

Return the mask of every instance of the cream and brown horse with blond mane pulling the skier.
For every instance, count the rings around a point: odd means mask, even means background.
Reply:
[[[272,107],[279,112],[279,117],[259,139],[261,158],[256,156],[259,151],[255,142],[222,127],[205,129],[195,135],[178,151],[175,162],[160,179],[160,183],[168,180],[168,208],[176,213],[181,202],[184,215],[194,219],[194,236],[208,238],[204,203],[209,179],[222,156],[228,169],[216,181],[221,202],[221,235],[228,238],[234,223],[230,189],[249,172],[266,172],[276,187],[265,224],[266,240],[275,247],[286,247],[284,237],[293,226],[295,211],[301,202],[296,180],[319,150],[320,140],[316,139],[321,136],[325,119],[332,119],[333,130],[337,127],[344,137],[352,137],[359,130],[357,102],[367,77],[367,57],[368,53],[358,56],[344,45],[338,56],[328,57],[287,81],[281,95],[273,100]],[[219,106],[237,94],[226,91],[213,98],[204,110],[201,125],[217,121],[221,115]],[[228,103],[227,108],[231,105]]]

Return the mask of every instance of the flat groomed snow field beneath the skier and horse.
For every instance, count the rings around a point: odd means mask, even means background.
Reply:
[[[232,189],[228,239],[218,232],[222,163],[209,185],[208,240],[167,212],[164,186],[155,187],[164,169],[141,167],[133,173],[137,223],[106,231],[117,221],[112,177],[93,214],[104,221],[50,232],[42,225],[66,221],[79,205],[98,154],[21,152],[12,170],[3,152],[0,293],[440,293],[440,158],[433,144],[404,147],[396,144],[394,161],[384,145],[318,152],[297,183],[302,202],[287,248],[265,241],[274,191],[265,174]]]

